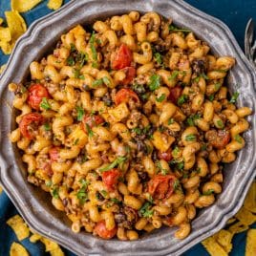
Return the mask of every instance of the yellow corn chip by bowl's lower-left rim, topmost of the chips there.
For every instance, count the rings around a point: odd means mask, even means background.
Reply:
[[[11,226],[11,229],[14,231],[19,241],[30,236],[30,229],[28,225],[24,223],[19,215],[11,217],[11,219],[7,221],[7,224]]]

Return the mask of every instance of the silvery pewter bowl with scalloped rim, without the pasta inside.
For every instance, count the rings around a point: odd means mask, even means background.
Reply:
[[[217,202],[199,212],[192,223],[192,232],[184,240],[173,236],[175,228],[161,228],[134,242],[104,241],[91,234],[75,234],[70,222],[54,210],[50,196],[26,181],[25,166],[15,145],[8,139],[14,128],[16,112],[12,110],[11,81],[22,82],[29,73],[29,65],[49,53],[63,32],[75,24],[88,24],[127,11],[158,11],[172,17],[175,24],[188,28],[208,42],[213,53],[232,55],[237,65],[226,82],[231,92],[239,91],[239,106],[248,106],[254,114],[248,118],[250,129],[245,133],[246,146],[232,164],[224,168],[224,191]],[[187,5],[181,0],[80,0],[72,1],[59,11],[34,22],[17,42],[5,73],[0,79],[0,181],[12,203],[32,228],[78,255],[180,255],[193,245],[221,229],[245,199],[246,191],[255,177],[255,70],[246,60],[234,36],[219,20]]]

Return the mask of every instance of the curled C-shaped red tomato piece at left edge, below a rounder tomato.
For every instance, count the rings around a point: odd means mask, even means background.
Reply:
[[[29,131],[29,126],[31,124],[40,125],[43,123],[43,121],[44,121],[44,117],[37,113],[30,113],[30,114],[24,115],[19,122],[19,129],[22,136],[28,139],[33,139],[34,136]]]

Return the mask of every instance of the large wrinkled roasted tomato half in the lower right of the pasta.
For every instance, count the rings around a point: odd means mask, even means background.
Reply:
[[[148,192],[154,199],[167,199],[174,191],[174,175],[156,175],[148,181]]]

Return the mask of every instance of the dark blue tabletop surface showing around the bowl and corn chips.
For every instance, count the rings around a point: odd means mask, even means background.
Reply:
[[[4,11],[10,10],[10,2],[11,0],[0,0],[0,17],[4,17]],[[64,2],[67,3],[69,0],[65,0]],[[250,17],[253,17],[256,21],[256,0],[186,0],[186,2],[201,11],[223,20],[234,33],[242,49],[244,49],[246,22]],[[46,4],[47,1],[43,1],[42,4],[38,5],[32,11],[22,14],[28,26],[35,19],[51,12],[46,8]],[[9,56],[3,55],[0,51],[0,65],[6,63],[8,57]],[[17,241],[11,228],[6,224],[6,221],[15,214],[17,214],[15,207],[3,192],[0,195],[0,256],[9,255],[11,243]],[[256,227],[256,224],[253,226]],[[26,239],[23,240],[21,244],[28,249],[32,256],[49,255],[44,252],[44,246],[40,243],[32,244],[29,239]],[[231,256],[245,255],[245,232],[234,237],[233,245]],[[75,256],[75,254],[67,250],[65,250],[65,253],[68,256]],[[204,250],[203,245],[195,245],[183,255],[206,256],[208,253]]]

